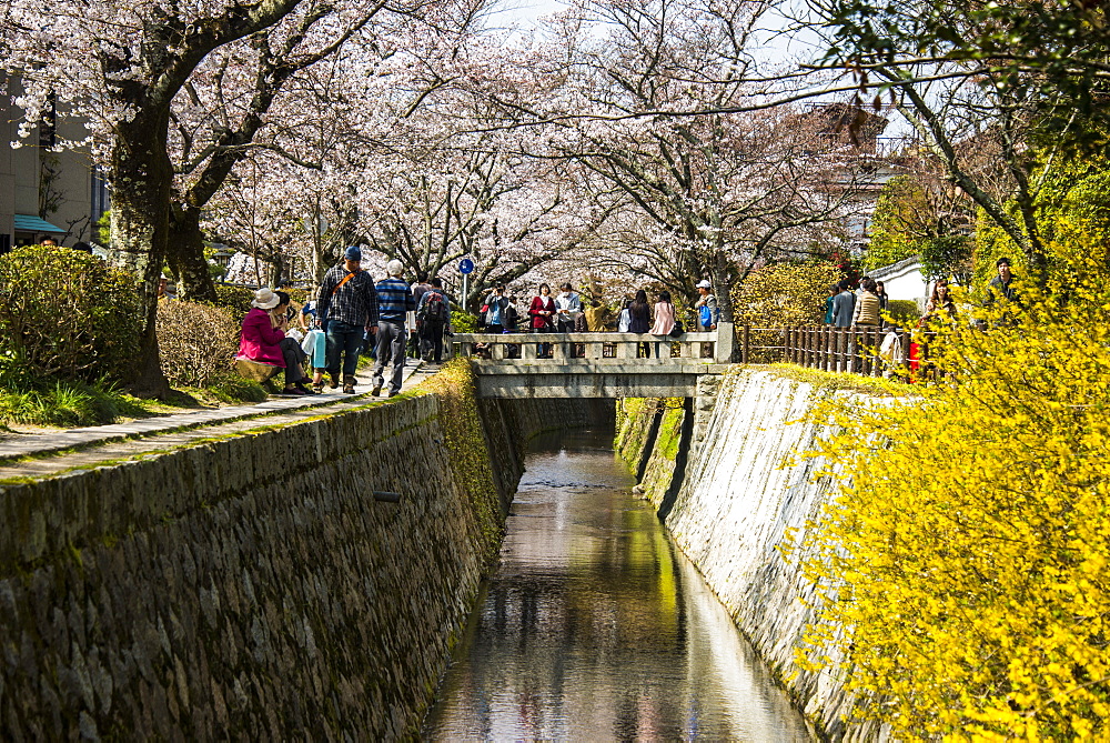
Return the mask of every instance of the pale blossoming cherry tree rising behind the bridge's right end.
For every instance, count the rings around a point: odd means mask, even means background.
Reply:
[[[619,250],[603,249],[602,263],[687,294],[707,277],[725,288],[836,240],[865,208],[855,183],[874,158],[839,109],[763,108],[774,76],[750,47],[768,7],[579,0],[521,58],[527,84],[492,93],[506,121],[549,130],[537,154],[574,160],[599,199],[620,202],[607,228]],[[729,320],[728,292],[717,298]]]

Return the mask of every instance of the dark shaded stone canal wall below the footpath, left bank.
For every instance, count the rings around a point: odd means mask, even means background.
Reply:
[[[0,737],[414,736],[522,471],[460,466],[442,405],[0,488]]]

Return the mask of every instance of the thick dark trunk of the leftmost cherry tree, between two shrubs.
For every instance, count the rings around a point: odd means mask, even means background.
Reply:
[[[145,116],[143,116],[145,113]],[[131,390],[164,398],[170,384],[158,348],[158,284],[169,238],[173,171],[167,154],[165,112],[143,112],[117,127],[112,148],[112,247],[139,274],[143,327]]]

